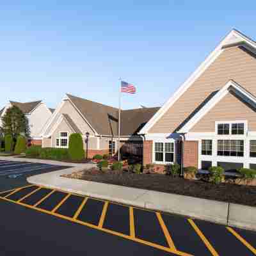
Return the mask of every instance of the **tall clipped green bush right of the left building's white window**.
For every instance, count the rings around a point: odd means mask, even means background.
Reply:
[[[84,146],[81,134],[70,134],[68,141],[68,154],[72,160],[84,159]]]

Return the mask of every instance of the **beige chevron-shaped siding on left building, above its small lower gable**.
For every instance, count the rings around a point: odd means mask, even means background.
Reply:
[[[90,132],[90,134],[94,135],[94,132],[90,128],[90,126],[84,121],[82,116],[77,112],[77,110],[74,108],[74,106],[70,103],[69,100],[65,100],[65,103],[61,107],[58,115],[52,120],[51,125],[47,129],[45,134],[49,134],[51,132],[52,127],[56,124],[58,118],[60,117],[60,114],[67,114],[70,116],[70,118],[73,120],[73,122],[77,125],[79,130],[85,134],[86,132]]]

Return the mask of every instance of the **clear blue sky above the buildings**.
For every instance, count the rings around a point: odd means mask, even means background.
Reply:
[[[5,3],[7,4],[5,4]],[[0,107],[65,93],[124,109],[161,106],[236,28],[256,38],[256,1],[1,1]]]

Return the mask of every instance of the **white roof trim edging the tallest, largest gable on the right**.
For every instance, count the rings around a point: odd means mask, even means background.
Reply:
[[[172,105],[183,95],[186,90],[196,81],[198,77],[213,63],[214,60],[225,50],[227,47],[233,47],[234,44],[241,44],[249,51],[255,51],[256,42],[253,41],[248,36],[243,35],[241,32],[236,29],[232,29],[230,33],[223,40],[221,40],[220,44],[211,52],[211,54],[205,59],[205,61],[189,76],[189,78],[179,87],[179,89],[173,93],[172,97],[168,99],[164,105],[157,111],[157,113],[150,118],[147,124],[141,129],[139,134],[147,134],[148,131],[153,127],[154,124],[172,107]]]

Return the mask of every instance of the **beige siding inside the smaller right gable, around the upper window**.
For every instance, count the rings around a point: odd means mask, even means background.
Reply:
[[[241,100],[237,99],[235,95],[228,93],[191,128],[190,132],[214,132],[215,121],[235,120],[247,120],[248,130],[256,131],[255,111],[246,106]]]

